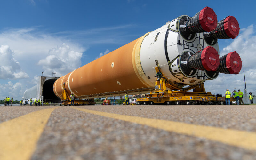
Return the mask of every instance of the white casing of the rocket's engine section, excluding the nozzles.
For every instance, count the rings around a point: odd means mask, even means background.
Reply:
[[[191,40],[186,40],[180,35],[177,26],[180,18],[183,16],[150,32],[142,41],[140,47],[141,67],[145,75],[153,84],[156,79],[156,71],[154,67],[157,66],[157,63],[167,79],[177,84],[199,84],[205,80],[215,79],[218,76],[218,74],[209,76],[207,74],[209,72],[203,70],[196,70],[193,74],[192,72],[190,74],[185,74],[180,67],[181,63],[185,63],[180,60],[180,56],[183,52],[189,51],[190,54],[193,55],[209,45],[204,40],[203,33],[196,33],[196,36]],[[210,46],[214,47],[219,53],[218,43]]]

